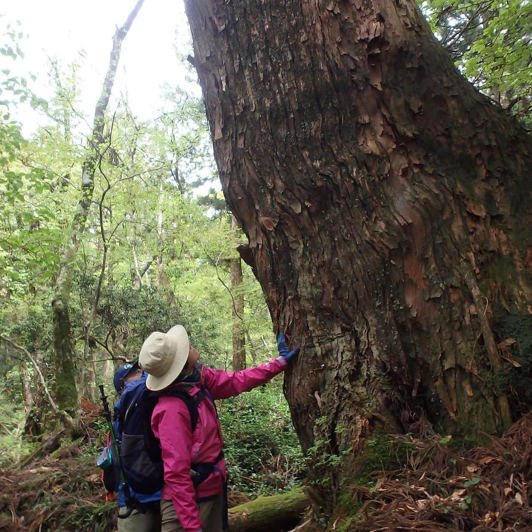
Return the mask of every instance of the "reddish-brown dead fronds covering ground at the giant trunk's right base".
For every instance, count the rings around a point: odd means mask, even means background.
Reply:
[[[464,450],[449,436],[388,443],[404,467],[347,486],[329,530],[532,531],[532,412],[483,447]]]

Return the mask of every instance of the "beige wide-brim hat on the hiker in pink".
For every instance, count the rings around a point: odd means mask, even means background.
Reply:
[[[146,387],[158,392],[170,386],[188,360],[185,327],[174,325],[168,332],[152,332],[140,349],[138,362],[148,373]]]

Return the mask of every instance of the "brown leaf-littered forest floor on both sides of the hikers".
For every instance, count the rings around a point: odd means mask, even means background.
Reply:
[[[85,413],[84,430],[85,437],[45,458],[0,470],[0,530],[115,530],[116,502],[105,502],[95,466],[98,412]],[[532,530],[532,413],[501,438],[467,451],[448,437],[388,442],[392,452],[406,446],[404,467],[346,486],[328,530]],[[248,500],[230,494],[230,506]]]

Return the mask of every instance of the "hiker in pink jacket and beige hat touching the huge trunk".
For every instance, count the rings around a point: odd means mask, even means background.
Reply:
[[[223,438],[214,399],[225,399],[259,386],[284,371],[299,349],[289,351],[282,333],[279,357],[243,371],[222,371],[198,363],[184,327],[152,332],[140,351],[140,367],[154,391],[182,390],[191,400],[162,396],[152,414],[161,443],[164,487],[161,532],[221,532],[227,527],[227,476]],[[197,410],[193,430],[194,413]]]

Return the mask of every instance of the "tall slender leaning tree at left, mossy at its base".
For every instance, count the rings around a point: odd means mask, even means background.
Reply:
[[[113,47],[109,59],[109,68],[105,75],[102,93],[94,111],[93,131],[89,137],[89,151],[82,165],[81,197],[78,210],[74,216],[71,235],[61,257],[59,275],[52,300],[52,321],[54,330],[54,395],[57,406],[61,410],[73,412],[78,404],[76,379],[74,378],[73,345],[69,314],[69,299],[72,288],[73,262],[78,250],[79,237],[85,229],[94,193],[94,177],[99,158],[102,156],[101,146],[104,142],[103,131],[105,112],[111,97],[114,78],[117,73],[122,42],[135,20],[144,0],[138,0],[131,10],[123,26],[117,28],[113,36]]]

